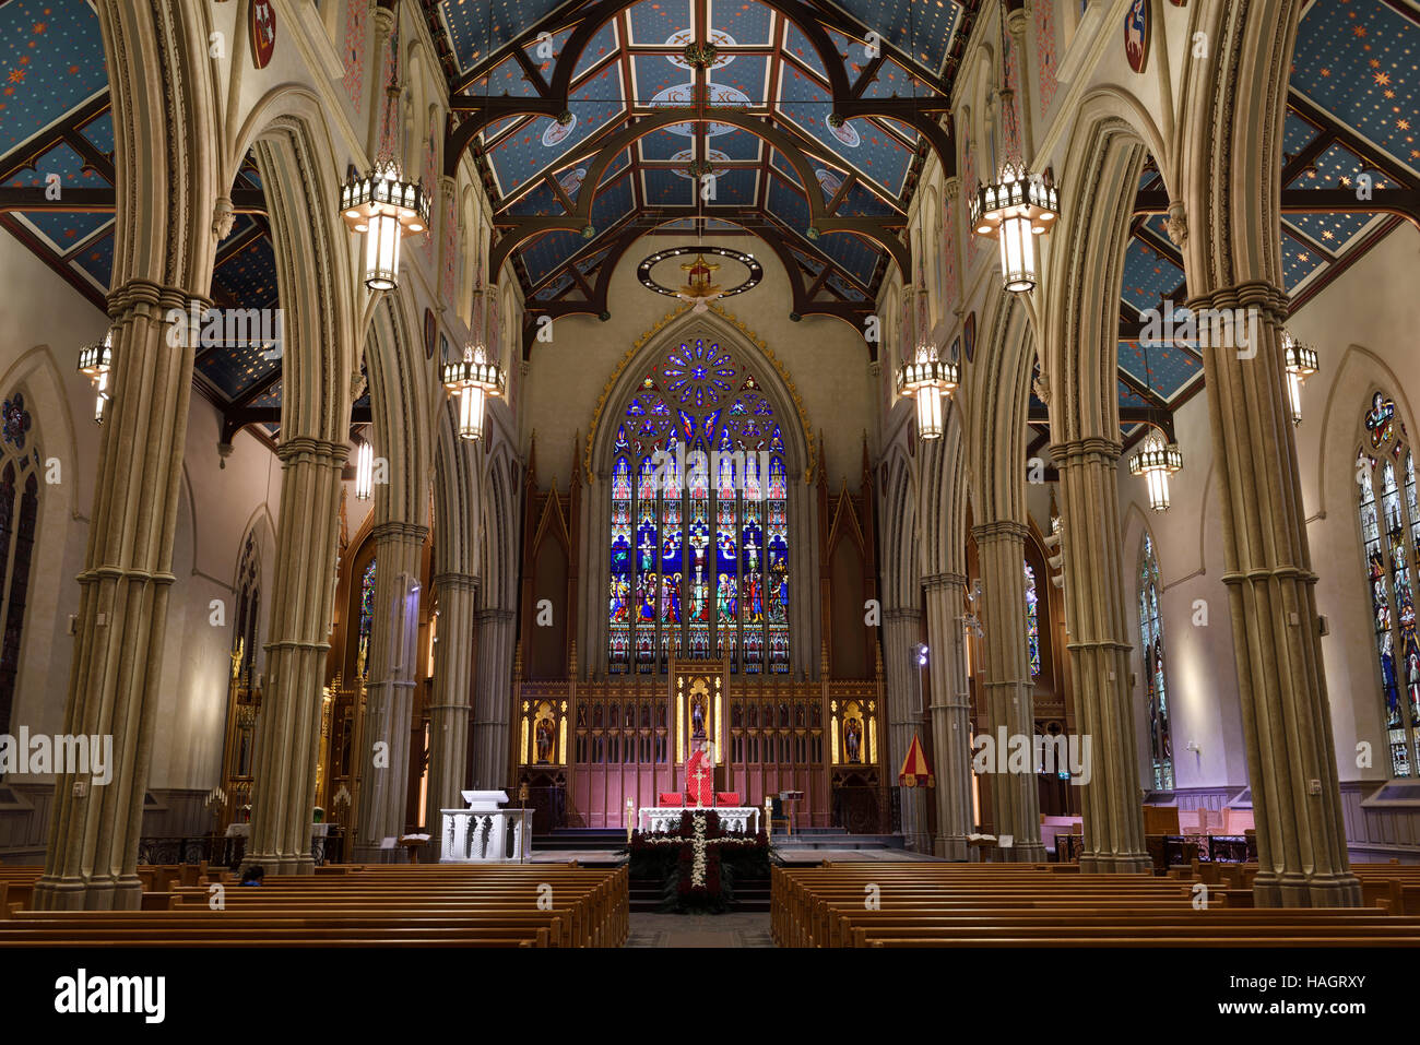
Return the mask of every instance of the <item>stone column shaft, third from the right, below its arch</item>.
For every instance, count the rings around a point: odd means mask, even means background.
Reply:
[[[997,521],[974,527],[985,598],[984,689],[997,767],[1007,764],[1000,750],[1000,730],[1007,740],[1035,735],[1035,708],[1030,656],[1025,649],[1025,525]],[[1034,751],[1034,748],[1032,748]],[[1030,863],[1045,859],[1041,845],[1041,798],[1034,755],[1024,772],[993,772],[991,806],[995,833],[1011,835],[1007,860]]]

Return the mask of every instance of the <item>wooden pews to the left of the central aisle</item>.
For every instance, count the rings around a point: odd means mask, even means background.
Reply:
[[[241,886],[169,882],[142,910],[10,910],[0,947],[619,947],[626,868],[328,866]],[[186,875],[186,877],[193,877]]]

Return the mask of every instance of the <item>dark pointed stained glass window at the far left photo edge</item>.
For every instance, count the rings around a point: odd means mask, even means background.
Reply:
[[[30,595],[30,559],[40,510],[40,447],[30,439],[33,422],[24,395],[4,400],[0,440],[0,734],[10,733],[14,690]],[[28,447],[28,450],[27,450]]]

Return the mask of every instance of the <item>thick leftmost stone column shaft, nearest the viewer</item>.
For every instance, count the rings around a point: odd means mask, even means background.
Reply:
[[[142,894],[138,838],[173,582],[195,344],[195,337],[169,338],[166,315],[173,308],[187,314],[190,300],[183,290],[145,280],[109,295],[112,398],[78,576],[64,731],[112,737],[112,779],[102,787],[88,777],[57,779],[44,875],[34,889],[41,909],[135,909]]]

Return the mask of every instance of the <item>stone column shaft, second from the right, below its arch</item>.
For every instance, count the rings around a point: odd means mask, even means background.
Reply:
[[[1082,872],[1149,872],[1139,785],[1135,708],[1129,686],[1129,630],[1119,549],[1118,442],[1086,437],[1052,456],[1061,476],[1065,619],[1079,743],[1088,743],[1082,785]]]

